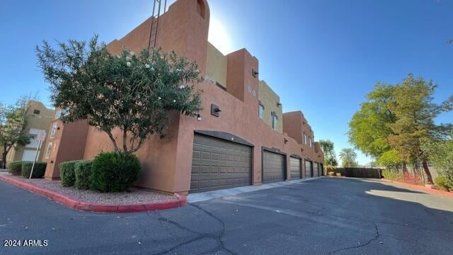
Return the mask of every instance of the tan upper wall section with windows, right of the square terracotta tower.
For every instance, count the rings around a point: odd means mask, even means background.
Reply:
[[[264,115],[263,120],[266,124],[272,127],[272,112],[275,112],[277,115],[277,132],[283,132],[283,115],[282,115],[282,106],[277,106],[277,103],[280,103],[280,96],[275,94],[275,92],[270,89],[270,86],[266,84],[265,81],[260,81],[259,83],[259,100],[264,105]],[[258,106],[256,106],[258,109]]]

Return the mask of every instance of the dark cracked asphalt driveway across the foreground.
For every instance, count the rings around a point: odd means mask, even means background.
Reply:
[[[0,254],[452,254],[453,197],[317,179],[130,214],[79,212],[0,181]]]

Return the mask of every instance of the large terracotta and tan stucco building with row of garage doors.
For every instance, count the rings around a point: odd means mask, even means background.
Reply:
[[[108,50],[147,47],[151,21],[110,42]],[[173,115],[166,138],[147,140],[136,153],[143,166],[136,185],[188,193],[318,176],[323,153],[302,112],[282,113],[279,96],[259,79],[258,59],[246,49],[223,55],[207,41],[209,23],[205,0],[178,0],[159,18],[156,45],[197,62],[205,77],[197,85],[204,110],[200,118]],[[46,179],[59,178],[60,162],[113,150],[108,136],[86,121],[62,125],[55,118],[53,125]],[[121,141],[119,130],[114,135]]]

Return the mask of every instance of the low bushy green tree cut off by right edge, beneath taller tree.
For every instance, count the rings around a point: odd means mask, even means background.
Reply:
[[[453,187],[453,134],[447,140],[424,142],[422,149],[428,154],[432,164],[445,176],[447,183]]]

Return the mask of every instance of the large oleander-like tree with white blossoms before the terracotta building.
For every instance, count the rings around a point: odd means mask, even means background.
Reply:
[[[163,137],[171,113],[193,117],[202,110],[197,64],[175,52],[144,49],[137,55],[124,48],[115,55],[97,35],[88,45],[69,40],[55,50],[44,42],[36,50],[63,122],[88,118],[110,137],[118,157],[136,152],[151,135]],[[122,135],[115,138],[113,130]]]

